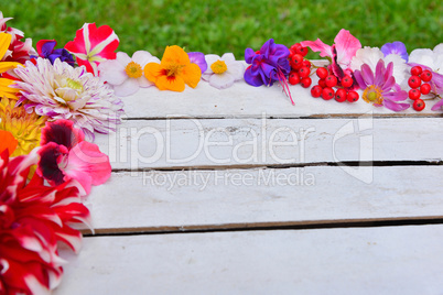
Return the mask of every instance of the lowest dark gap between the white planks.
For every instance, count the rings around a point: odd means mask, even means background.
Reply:
[[[336,220],[307,220],[287,222],[253,222],[253,223],[224,223],[185,227],[143,227],[143,228],[109,228],[80,230],[84,237],[105,236],[139,236],[139,234],[173,234],[173,233],[205,233],[223,231],[257,231],[257,230],[311,230],[337,228],[375,228],[443,225],[443,216],[395,217],[374,219],[336,219]]]

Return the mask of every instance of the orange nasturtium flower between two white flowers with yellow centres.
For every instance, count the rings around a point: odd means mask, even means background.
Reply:
[[[195,88],[202,77],[202,70],[191,63],[185,51],[176,45],[166,46],[162,61],[149,63],[144,76],[153,81],[160,90],[183,91],[185,84]]]

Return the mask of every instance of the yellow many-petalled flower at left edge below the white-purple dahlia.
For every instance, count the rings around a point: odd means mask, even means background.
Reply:
[[[18,141],[18,146],[11,156],[29,154],[40,145],[41,129],[46,117],[35,112],[28,113],[23,107],[14,107],[15,100],[2,98],[0,101],[0,130],[9,131]]]

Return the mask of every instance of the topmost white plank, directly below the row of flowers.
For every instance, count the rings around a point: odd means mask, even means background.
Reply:
[[[312,76],[313,85],[318,80]],[[375,108],[360,99],[355,103],[338,103],[334,99],[325,101],[311,96],[311,87],[305,89],[300,85],[290,86],[295,106],[282,91],[282,87],[252,87],[245,81],[238,81],[228,89],[218,90],[208,83],[201,81],[193,89],[186,87],[183,92],[160,91],[156,87],[141,88],[131,97],[123,97],[125,110],[129,118],[166,118],[191,116],[196,118],[261,118],[266,112],[274,118],[300,118],[309,116],[328,116],[343,113],[396,114],[386,108]],[[408,102],[411,100],[408,99]],[[426,102],[422,112],[412,108],[401,113],[419,116],[440,116],[441,111],[432,111],[434,101]]]

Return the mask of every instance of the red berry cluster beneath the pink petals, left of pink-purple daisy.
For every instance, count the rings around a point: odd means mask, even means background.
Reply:
[[[313,97],[322,97],[324,100],[335,98],[338,102],[344,102],[345,100],[355,102],[358,100],[359,95],[356,91],[345,89],[353,86],[353,77],[343,77],[341,81],[343,88],[338,88],[335,91],[334,87],[338,86],[337,77],[331,74],[325,67],[318,67],[315,74],[318,76],[320,80],[318,85],[311,88],[311,95]]]

